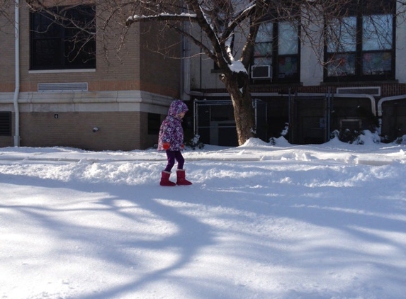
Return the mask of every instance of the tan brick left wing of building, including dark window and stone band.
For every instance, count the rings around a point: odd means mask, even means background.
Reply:
[[[98,7],[83,5],[72,13],[86,20]],[[96,38],[75,54],[81,42],[69,42],[73,26],[52,23],[47,13],[24,5],[18,16],[18,43],[14,20],[0,22],[0,147],[134,150],[157,143],[181,78],[179,60],[153,52],[159,28],[135,24],[117,54],[120,28],[101,38],[100,24],[93,22],[90,38]],[[166,35],[162,43],[179,45],[179,35]],[[171,51],[181,53],[179,46]]]

